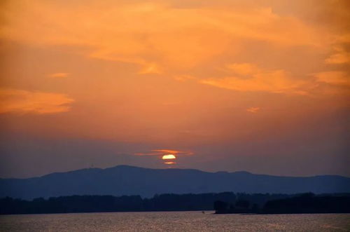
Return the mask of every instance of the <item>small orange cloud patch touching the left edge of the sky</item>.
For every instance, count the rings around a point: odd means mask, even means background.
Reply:
[[[69,111],[73,100],[64,94],[0,89],[0,114],[57,114]]]

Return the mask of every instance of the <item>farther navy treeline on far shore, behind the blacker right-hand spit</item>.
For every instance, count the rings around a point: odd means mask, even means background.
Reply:
[[[66,212],[127,212],[214,210],[220,200],[235,203],[238,199],[263,205],[267,200],[286,198],[284,194],[202,193],[160,194],[153,198],[140,196],[61,196],[48,199],[0,199],[0,214],[38,214]]]

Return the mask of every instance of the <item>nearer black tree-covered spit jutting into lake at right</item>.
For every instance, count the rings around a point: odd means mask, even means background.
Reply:
[[[305,213],[349,213],[350,194],[318,195],[302,193],[288,198],[269,200],[263,207],[248,200],[228,203],[214,202],[216,214],[260,213],[260,214],[305,214]]]

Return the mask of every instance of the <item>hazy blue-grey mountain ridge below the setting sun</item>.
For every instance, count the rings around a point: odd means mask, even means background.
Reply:
[[[202,172],[120,165],[60,172],[29,179],[0,179],[0,197],[31,199],[71,195],[140,195],[159,193],[344,193],[350,178],[335,175],[278,177],[249,172]]]

